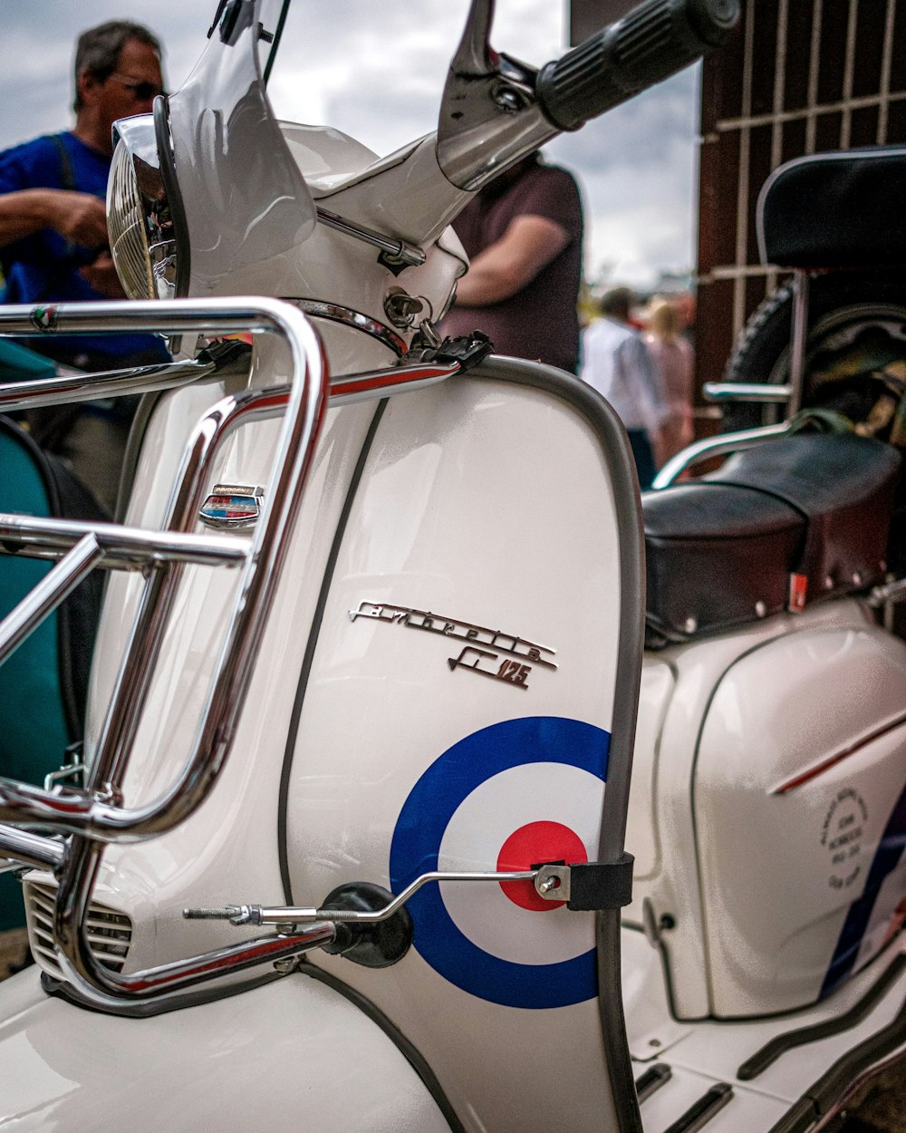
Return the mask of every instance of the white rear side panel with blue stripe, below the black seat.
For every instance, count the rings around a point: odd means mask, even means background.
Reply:
[[[901,922],[904,704],[906,646],[867,625],[779,638],[718,685],[694,781],[716,1015],[814,1003]]]

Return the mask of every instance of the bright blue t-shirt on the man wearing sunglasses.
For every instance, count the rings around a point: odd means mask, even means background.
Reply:
[[[74,134],[57,136],[69,155],[74,184],[66,184],[62,156],[53,139],[40,137],[0,153],[0,194],[19,189],[76,188],[104,199],[110,157],[92,150]],[[0,248],[0,266],[6,282],[0,300],[36,304],[105,299],[106,296],[79,275],[79,269],[92,263],[101,250],[69,245],[59,232],[49,228],[8,244]],[[52,339],[23,341],[67,361],[82,351],[108,355],[112,366],[126,356],[145,351],[156,353],[161,360],[169,358],[163,340],[152,334],[54,334]]]

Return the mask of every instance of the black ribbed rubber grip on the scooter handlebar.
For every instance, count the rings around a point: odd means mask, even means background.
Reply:
[[[541,68],[541,112],[557,129],[579,129],[719,46],[738,16],[740,0],[647,0]]]

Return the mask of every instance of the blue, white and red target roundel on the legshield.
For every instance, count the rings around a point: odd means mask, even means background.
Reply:
[[[504,721],[460,740],[400,811],[393,892],[434,870],[593,860],[609,741],[558,716]],[[408,908],[416,951],[463,991],[535,1010],[597,995],[593,918],[541,900],[531,881],[431,883]]]

